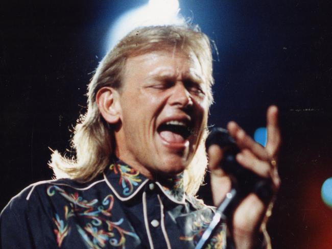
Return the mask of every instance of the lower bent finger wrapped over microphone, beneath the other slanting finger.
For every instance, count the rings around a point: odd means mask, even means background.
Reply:
[[[249,150],[243,150],[236,155],[238,161],[243,167],[251,170],[256,175],[263,178],[271,177],[271,165],[267,161],[263,161],[255,157]]]

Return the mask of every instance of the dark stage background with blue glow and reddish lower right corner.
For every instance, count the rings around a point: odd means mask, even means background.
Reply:
[[[2,209],[52,177],[48,147],[65,152],[85,109],[91,72],[111,23],[147,1],[2,1],[0,125]],[[332,8],[324,1],[180,1],[215,40],[216,104],[210,124],[236,120],[253,134],[280,109],[282,186],[269,222],[274,248],[331,248]]]

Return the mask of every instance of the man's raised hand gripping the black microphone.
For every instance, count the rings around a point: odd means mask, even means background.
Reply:
[[[240,148],[236,155],[243,167],[253,171],[258,176],[269,179],[271,182],[272,194],[267,200],[260,200],[251,193],[235,209],[232,219],[232,236],[237,248],[252,248],[258,242],[258,235],[262,225],[269,216],[268,208],[280,186],[280,178],[277,171],[277,157],[280,146],[280,131],[278,127],[278,109],[271,106],[267,112],[267,133],[268,140],[266,147],[256,143],[248,136],[238,124],[231,121],[227,129]],[[215,205],[223,200],[230,188],[230,179],[220,169],[223,150],[217,145],[211,145],[208,150],[209,170],[211,172],[211,188]]]

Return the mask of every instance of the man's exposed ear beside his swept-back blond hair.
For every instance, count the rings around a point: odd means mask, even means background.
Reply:
[[[112,87],[102,87],[96,95],[96,102],[103,118],[108,122],[115,124],[120,120],[120,102],[119,93]]]

